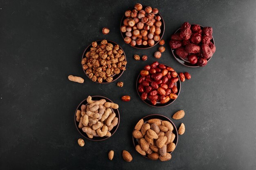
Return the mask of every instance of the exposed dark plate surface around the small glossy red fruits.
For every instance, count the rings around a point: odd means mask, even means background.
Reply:
[[[160,63],[161,64],[161,63]],[[166,65],[166,64],[164,64],[165,66],[168,66],[168,65]],[[170,67],[170,66],[168,66],[168,67]],[[138,83],[138,81],[139,81],[139,78],[141,77],[141,75],[139,74],[138,75],[138,78],[137,78],[137,81],[136,81],[136,90],[137,90],[137,93],[138,93],[138,95],[139,95],[139,98],[141,99],[141,92],[139,92],[138,91],[138,87],[139,87],[139,83]],[[179,75],[177,75],[177,77],[179,78],[179,81],[177,81],[177,82],[175,82],[175,86],[177,86],[177,89],[178,89],[178,93],[176,93],[177,94],[177,98],[178,98],[178,96],[179,96],[179,94],[180,94],[180,89],[181,89],[181,82],[180,82],[180,77],[179,77]],[[176,98],[176,99],[177,99]],[[153,106],[153,107],[157,107],[157,108],[161,108],[161,107],[165,107],[165,106],[168,106],[168,105],[170,105],[170,104],[172,104],[176,99],[170,99],[167,103],[164,103],[164,104],[162,104],[162,103],[160,103],[160,102],[157,102],[157,104],[156,105],[153,105],[153,104],[151,104],[151,102],[150,102],[150,99],[146,99],[146,100],[142,100],[144,103],[146,103],[146,104],[148,104],[149,106]]]

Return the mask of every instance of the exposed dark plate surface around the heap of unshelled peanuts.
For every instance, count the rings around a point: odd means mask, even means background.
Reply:
[[[86,98],[87,99],[87,98]],[[76,111],[77,110],[81,110],[81,106],[84,104],[84,105],[87,105],[87,101],[86,99],[84,99],[76,108]],[[92,100],[100,100],[100,99],[106,99],[107,102],[112,102],[110,99],[108,99],[107,97],[103,97],[103,96],[92,96]],[[113,103],[113,102],[112,102]],[[111,108],[112,109],[112,108]],[[112,135],[115,134],[115,132],[117,131],[117,128],[119,126],[119,123],[120,123],[120,114],[119,114],[119,110],[118,109],[112,109],[113,113],[116,114],[116,117],[118,118],[118,124],[117,126],[115,126],[110,132],[111,132],[111,136],[110,137],[97,137],[97,136],[94,136],[92,139],[90,139],[85,132],[83,132],[82,129],[78,128],[78,125],[79,125],[79,121],[76,121],[76,111],[75,111],[75,116],[74,116],[74,120],[75,120],[75,126],[76,126],[76,129],[79,131],[79,133],[85,137],[86,139],[89,139],[89,140],[92,140],[92,141],[103,141],[103,140],[106,140],[108,138],[110,138]]]

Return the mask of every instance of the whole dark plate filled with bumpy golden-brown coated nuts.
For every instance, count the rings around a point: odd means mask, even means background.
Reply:
[[[117,43],[110,40],[92,42],[82,55],[82,68],[87,77],[97,83],[111,83],[126,70],[126,55]]]

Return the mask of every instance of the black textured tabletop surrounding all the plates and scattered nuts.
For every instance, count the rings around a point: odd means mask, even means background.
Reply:
[[[255,170],[256,169],[256,2],[139,1],[157,7],[166,24],[164,40],[188,21],[213,27],[217,51],[204,68],[188,68],[166,52],[159,62],[192,78],[182,83],[178,99],[168,107],[144,104],[135,79],[145,64],[155,61],[149,50],[124,44],[119,24],[137,1],[0,0],[0,169],[1,170]],[[103,35],[102,27],[110,28]],[[83,50],[93,40],[119,43],[127,70],[119,81],[96,84],[81,69]],[[146,62],[134,54],[148,55]],[[85,79],[70,82],[68,75]],[[103,95],[119,104],[120,126],[110,139],[85,140],[74,126],[74,111],[88,95]],[[122,102],[130,95],[130,102]],[[135,151],[131,132],[145,115],[171,117],[184,109],[186,132],[172,159],[150,161]],[[113,161],[108,151],[115,150]],[[133,160],[125,162],[121,151]]]

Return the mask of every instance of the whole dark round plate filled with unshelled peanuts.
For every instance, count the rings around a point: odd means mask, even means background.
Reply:
[[[118,104],[103,96],[88,96],[76,108],[76,129],[86,139],[103,141],[114,135],[120,123]]]

